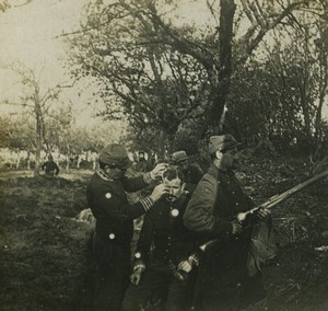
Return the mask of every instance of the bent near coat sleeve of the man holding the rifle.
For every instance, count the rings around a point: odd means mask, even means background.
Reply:
[[[213,215],[216,194],[218,182],[214,177],[206,175],[199,182],[184,215],[184,223],[189,230],[218,235],[232,232],[229,220]]]

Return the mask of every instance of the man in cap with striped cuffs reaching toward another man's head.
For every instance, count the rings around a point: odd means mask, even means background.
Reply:
[[[93,253],[96,266],[95,310],[119,310],[122,295],[129,284],[130,243],[133,219],[150,210],[167,193],[161,184],[150,196],[129,204],[127,192],[147,187],[162,175],[167,164],[157,164],[151,172],[128,178],[130,166],[127,150],[117,143],[108,145],[99,154],[99,169],[86,187],[87,203],[96,219]]]

